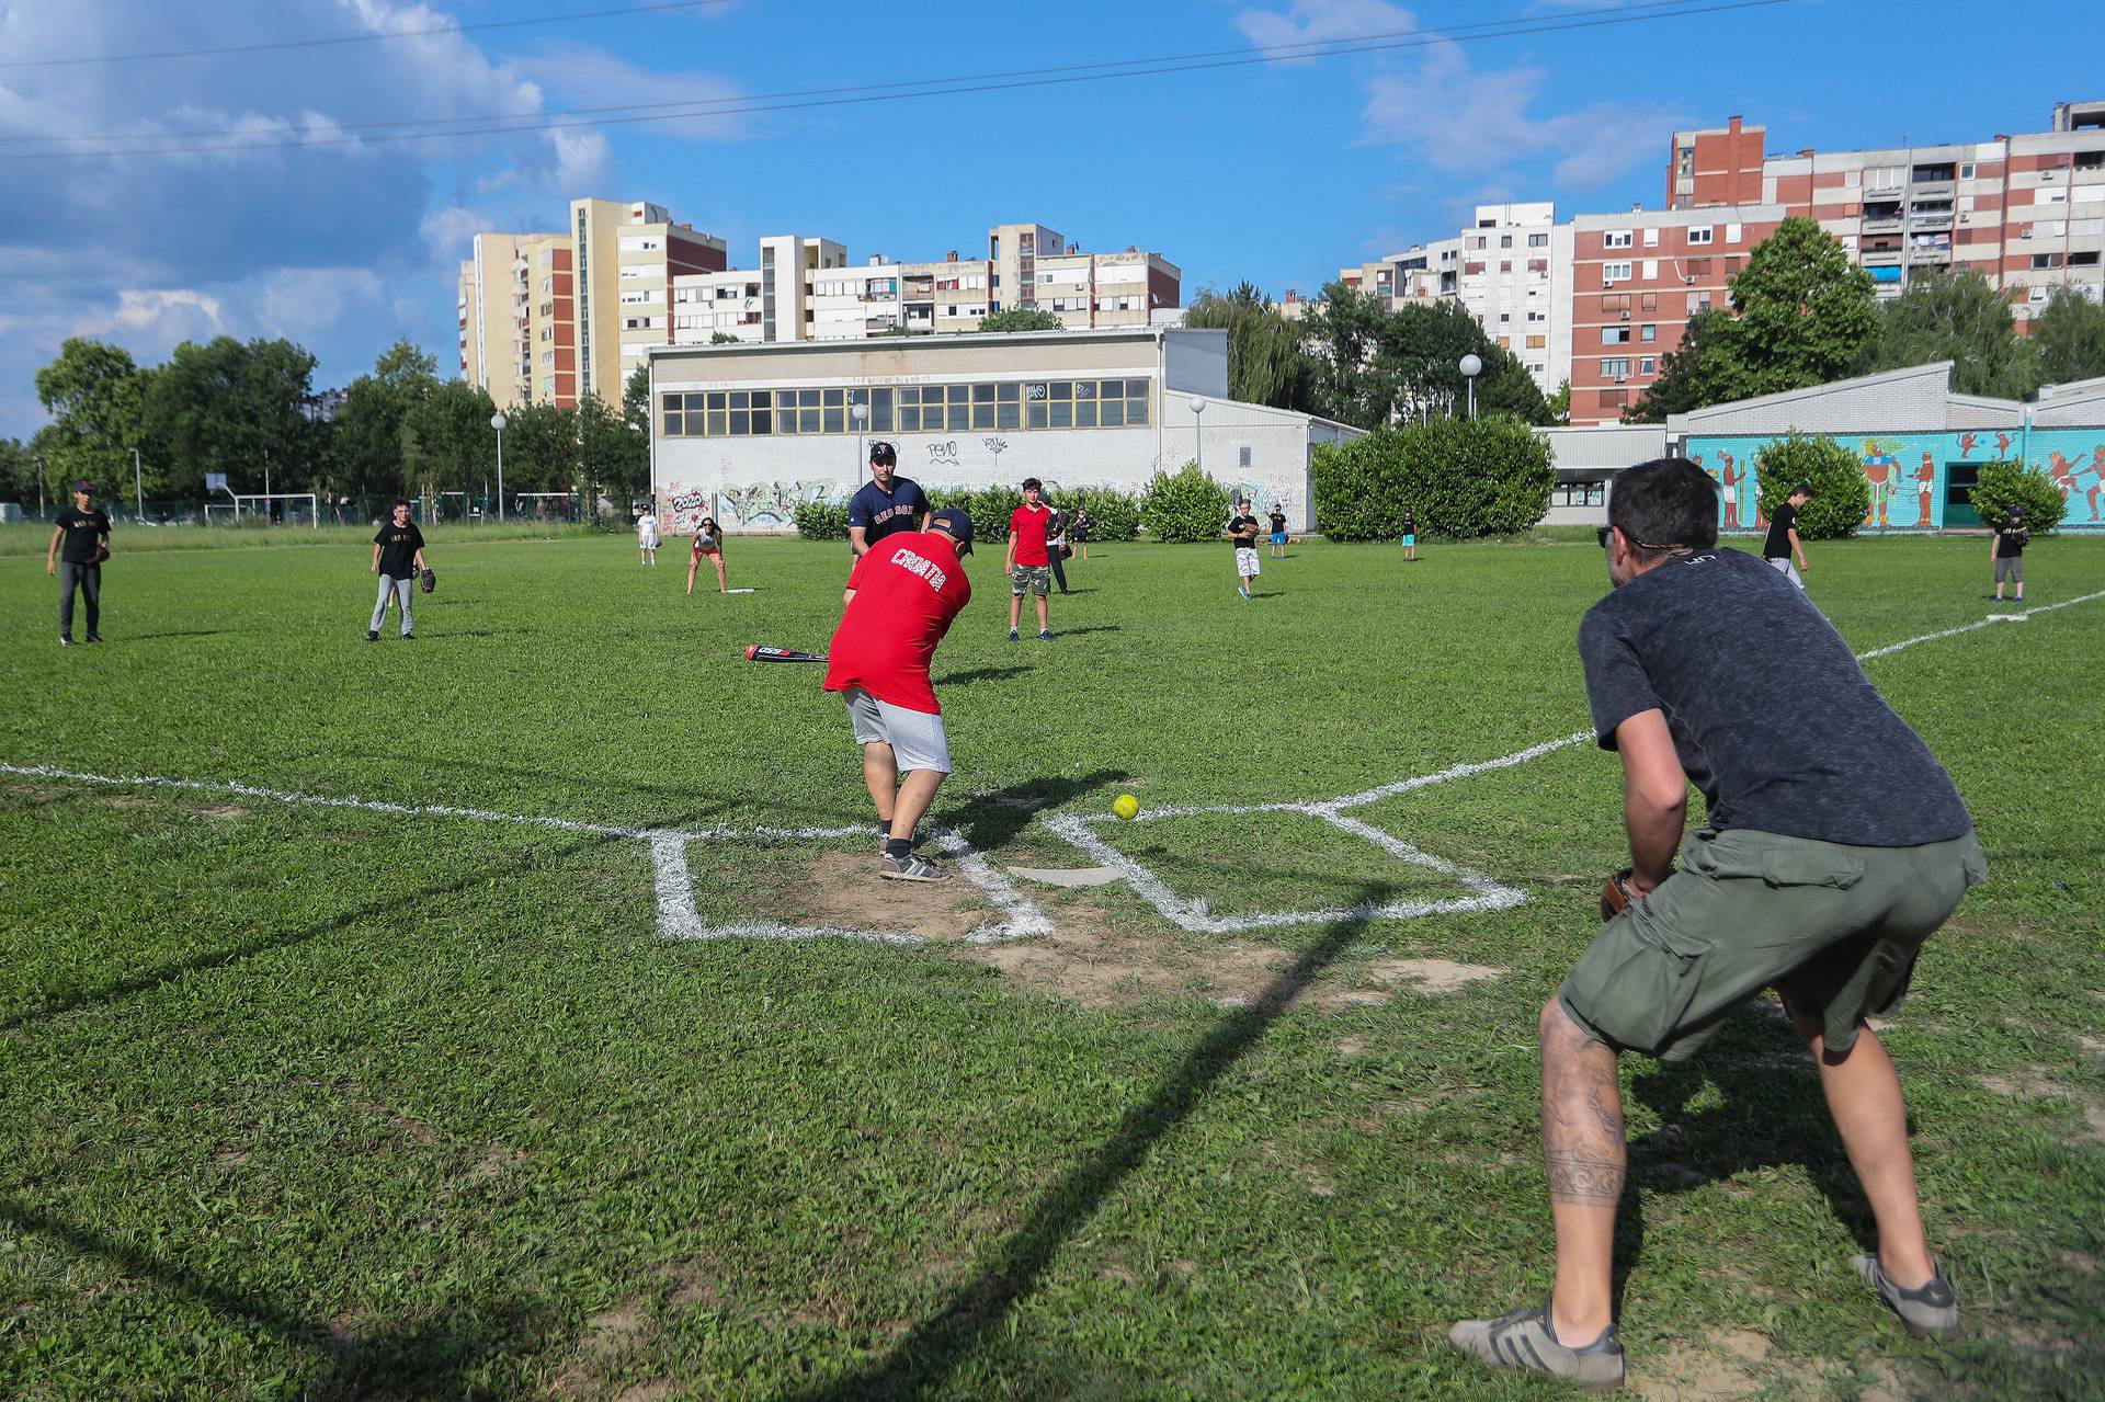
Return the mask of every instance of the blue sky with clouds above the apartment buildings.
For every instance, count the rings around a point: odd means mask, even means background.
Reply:
[[[558,227],[581,194],[667,204],[722,236],[733,265],[773,232],[825,234],[855,259],[941,257],[983,246],[991,223],[1036,219],[1090,248],[1164,253],[1187,293],[1248,278],[1278,295],[1452,234],[1480,200],[1657,206],[1676,124],[1737,112],[1768,124],[1772,152],[1890,145],[2042,131],[2054,101],[2105,97],[2094,44],[1974,42],[1979,6],[1945,0],[1798,0],[1261,67],[394,143],[368,124],[1558,23],[1615,0],[728,0],[51,63],[625,2],[0,0],[0,154],[236,133],[217,152],[4,162],[0,434],[42,423],[32,379],[67,335],[147,362],[185,337],[284,335],[320,356],[322,383],[410,337],[450,373],[467,236]],[[2031,36],[2073,40],[2094,23],[2078,0],[2023,15]]]

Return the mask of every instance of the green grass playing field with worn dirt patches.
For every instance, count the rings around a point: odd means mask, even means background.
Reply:
[[[330,537],[333,533],[322,533]],[[1522,1398],[1442,1343],[1539,1299],[1535,1015],[1621,865],[1612,756],[1568,745],[1351,817],[1526,899],[1191,933],[1135,886],[876,880],[817,667],[844,549],[733,541],[680,594],[623,537],[436,533],[415,642],[364,642],[360,535],[120,533],[101,648],[0,541],[0,1396]],[[678,545],[678,543],[676,543]],[[1044,819],[1326,800],[1587,722],[1591,541],[1076,562],[1008,644],[1000,552],[937,659],[935,821],[996,872]],[[1812,545],[1859,650],[1979,621],[1979,541]],[[2105,541],[2027,552],[2031,604]],[[705,585],[707,587],[707,585]],[[2105,1398],[2105,598],[1867,663],[1993,872],[1888,1044],[1966,1330],[1848,1271],[1869,1217],[1764,1008],[1625,1059],[1623,1341],[1655,1398]],[[699,924],[924,935],[665,939]],[[1240,918],[1467,897],[1305,813],[1090,827]]]

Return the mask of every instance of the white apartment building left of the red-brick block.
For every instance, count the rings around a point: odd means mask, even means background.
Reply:
[[[1556,394],[1572,362],[1572,225],[1558,223],[1551,202],[1478,204],[1459,242],[1455,297],[1543,394]]]

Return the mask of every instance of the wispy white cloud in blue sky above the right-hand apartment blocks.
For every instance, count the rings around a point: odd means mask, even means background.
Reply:
[[[1474,69],[1459,44],[1434,44],[1415,72],[1368,82],[1362,139],[1410,147],[1457,173],[1490,175],[1547,158],[1560,187],[1593,187],[1652,162],[1665,133],[1686,124],[1657,103],[1535,112],[1545,76],[1537,67]]]

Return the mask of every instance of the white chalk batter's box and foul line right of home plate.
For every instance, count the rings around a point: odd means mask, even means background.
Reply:
[[[2105,589],[2094,594],[2082,594],[2078,598],[2065,598],[2054,604],[2040,604],[2036,608],[2025,608],[2014,615],[1989,615],[1974,623],[1962,623],[1960,627],[1943,627],[1934,634],[1920,634],[1903,642],[1892,642],[1882,648],[1871,648],[1867,653],[1857,653],[1857,661],[1873,661],[1878,657],[1892,657],[1905,648],[1937,642],[1941,638],[1958,638],[1960,634],[1970,634],[1981,627],[1993,627],[1996,623],[2023,623],[2033,613],[2052,613],[2054,608],[2073,608],[2076,604],[2088,604],[2105,598]],[[1168,882],[1147,869],[1135,857],[1118,850],[1105,842],[1097,829],[1114,819],[1095,813],[1055,813],[1044,815],[1038,821],[1065,838],[1069,844],[1082,848],[1099,865],[1109,867],[1126,878],[1132,893],[1143,901],[1154,905],[1166,920],[1194,933],[1194,935],[1225,935],[1234,930],[1257,930],[1257,928],[1278,928],[1288,924],[1328,924],[1335,920],[1415,920],[1419,916],[1444,916],[1461,912],[1480,909],[1511,909],[1524,903],[1528,897],[1511,886],[1501,886],[1482,872],[1461,867],[1419,848],[1410,846],[1402,838],[1383,832],[1360,819],[1345,817],[1347,808],[1364,808],[1366,804],[1381,802],[1383,798],[1396,798],[1400,794],[1410,794],[1412,789],[1423,789],[1434,783],[1450,783],[1455,779],[1467,779],[1471,775],[1488,775],[1499,768],[1513,768],[1516,764],[1530,764],[1543,756],[1556,754],[1558,749],[1568,749],[1570,745],[1583,745],[1593,739],[1593,730],[1575,730],[1572,735],[1560,735],[1558,739],[1541,741],[1528,745],[1526,749],[1516,749],[1513,754],[1499,756],[1497,760],[1478,760],[1471,764],[1452,764],[1431,775],[1417,775],[1412,779],[1398,779],[1394,783],[1381,783],[1370,789],[1360,789],[1358,794],[1345,794],[1341,798],[1320,798],[1303,802],[1267,802],[1267,804],[1168,804],[1162,808],[1143,808],[1137,813],[1132,823],[1162,821],[1162,819],[1183,819],[1183,817],[1252,817],[1259,813],[1301,813],[1307,817],[1322,819],[1332,827],[1349,832],[1354,836],[1366,838],[1375,846],[1383,848],[1398,861],[1421,865],[1442,876],[1450,876],[1461,886],[1469,888],[1471,897],[1452,901],[1362,901],[1347,907],[1326,907],[1326,909],[1303,909],[1303,912],[1255,912],[1244,916],[1215,916],[1206,901],[1191,897],[1179,897]]]

